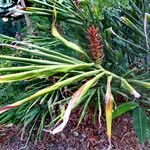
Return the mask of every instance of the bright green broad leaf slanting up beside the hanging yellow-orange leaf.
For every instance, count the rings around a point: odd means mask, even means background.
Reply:
[[[128,102],[128,103],[123,103],[121,105],[119,105],[117,107],[117,109],[114,110],[113,112],[113,119],[118,117],[118,116],[121,116],[122,114],[134,109],[135,107],[137,107],[138,104],[135,103],[135,102]]]

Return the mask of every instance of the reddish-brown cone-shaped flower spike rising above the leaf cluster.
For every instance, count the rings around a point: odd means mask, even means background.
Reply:
[[[101,63],[104,57],[104,52],[99,29],[90,26],[87,32],[91,56],[96,63]]]

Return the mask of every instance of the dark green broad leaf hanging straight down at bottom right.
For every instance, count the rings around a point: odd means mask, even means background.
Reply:
[[[147,128],[147,116],[142,107],[137,107],[133,110],[134,129],[139,140],[144,143]]]

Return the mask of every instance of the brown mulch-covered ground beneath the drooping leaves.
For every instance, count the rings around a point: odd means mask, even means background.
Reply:
[[[0,150],[105,150],[108,141],[104,121],[99,130],[99,124],[93,123],[93,114],[90,113],[76,128],[78,117],[74,112],[62,133],[52,136],[44,132],[40,142],[34,143],[32,139],[26,147],[26,139],[20,139],[20,127],[1,126]],[[113,121],[112,145],[115,150],[150,150],[150,143],[140,144],[138,141],[129,114]]]

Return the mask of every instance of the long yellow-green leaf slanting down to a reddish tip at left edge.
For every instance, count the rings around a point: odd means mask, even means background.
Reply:
[[[23,100],[20,100],[20,101],[18,101],[18,102],[15,102],[15,103],[13,103],[13,104],[10,104],[10,105],[7,105],[7,106],[5,106],[5,107],[0,108],[0,114],[4,113],[4,112],[6,112],[6,111],[8,111],[8,110],[10,110],[10,109],[12,109],[12,108],[16,108],[16,107],[18,107],[18,106],[20,106],[20,105],[22,105],[22,104],[24,104],[24,103],[26,103],[26,102],[29,102],[29,101],[31,101],[31,100],[34,100],[34,99],[36,99],[37,97],[42,96],[42,95],[44,95],[44,94],[46,94],[46,93],[50,93],[50,92],[52,92],[52,91],[54,91],[54,90],[57,90],[57,89],[60,89],[60,88],[62,88],[62,87],[64,87],[64,86],[66,86],[66,85],[70,85],[70,84],[72,84],[72,83],[75,83],[75,82],[77,82],[77,81],[80,81],[80,80],[82,80],[83,78],[96,75],[96,74],[98,74],[99,72],[100,72],[99,70],[89,71],[89,72],[86,72],[86,73],[84,73],[84,74],[80,74],[80,75],[71,77],[71,78],[69,78],[69,79],[63,80],[63,81],[61,81],[61,82],[57,82],[57,83],[55,83],[54,85],[49,86],[49,87],[47,87],[47,88],[44,88],[44,89],[42,89],[42,90],[36,92],[35,94],[33,94],[33,95],[31,95],[31,96],[29,96],[29,97],[23,99]]]

